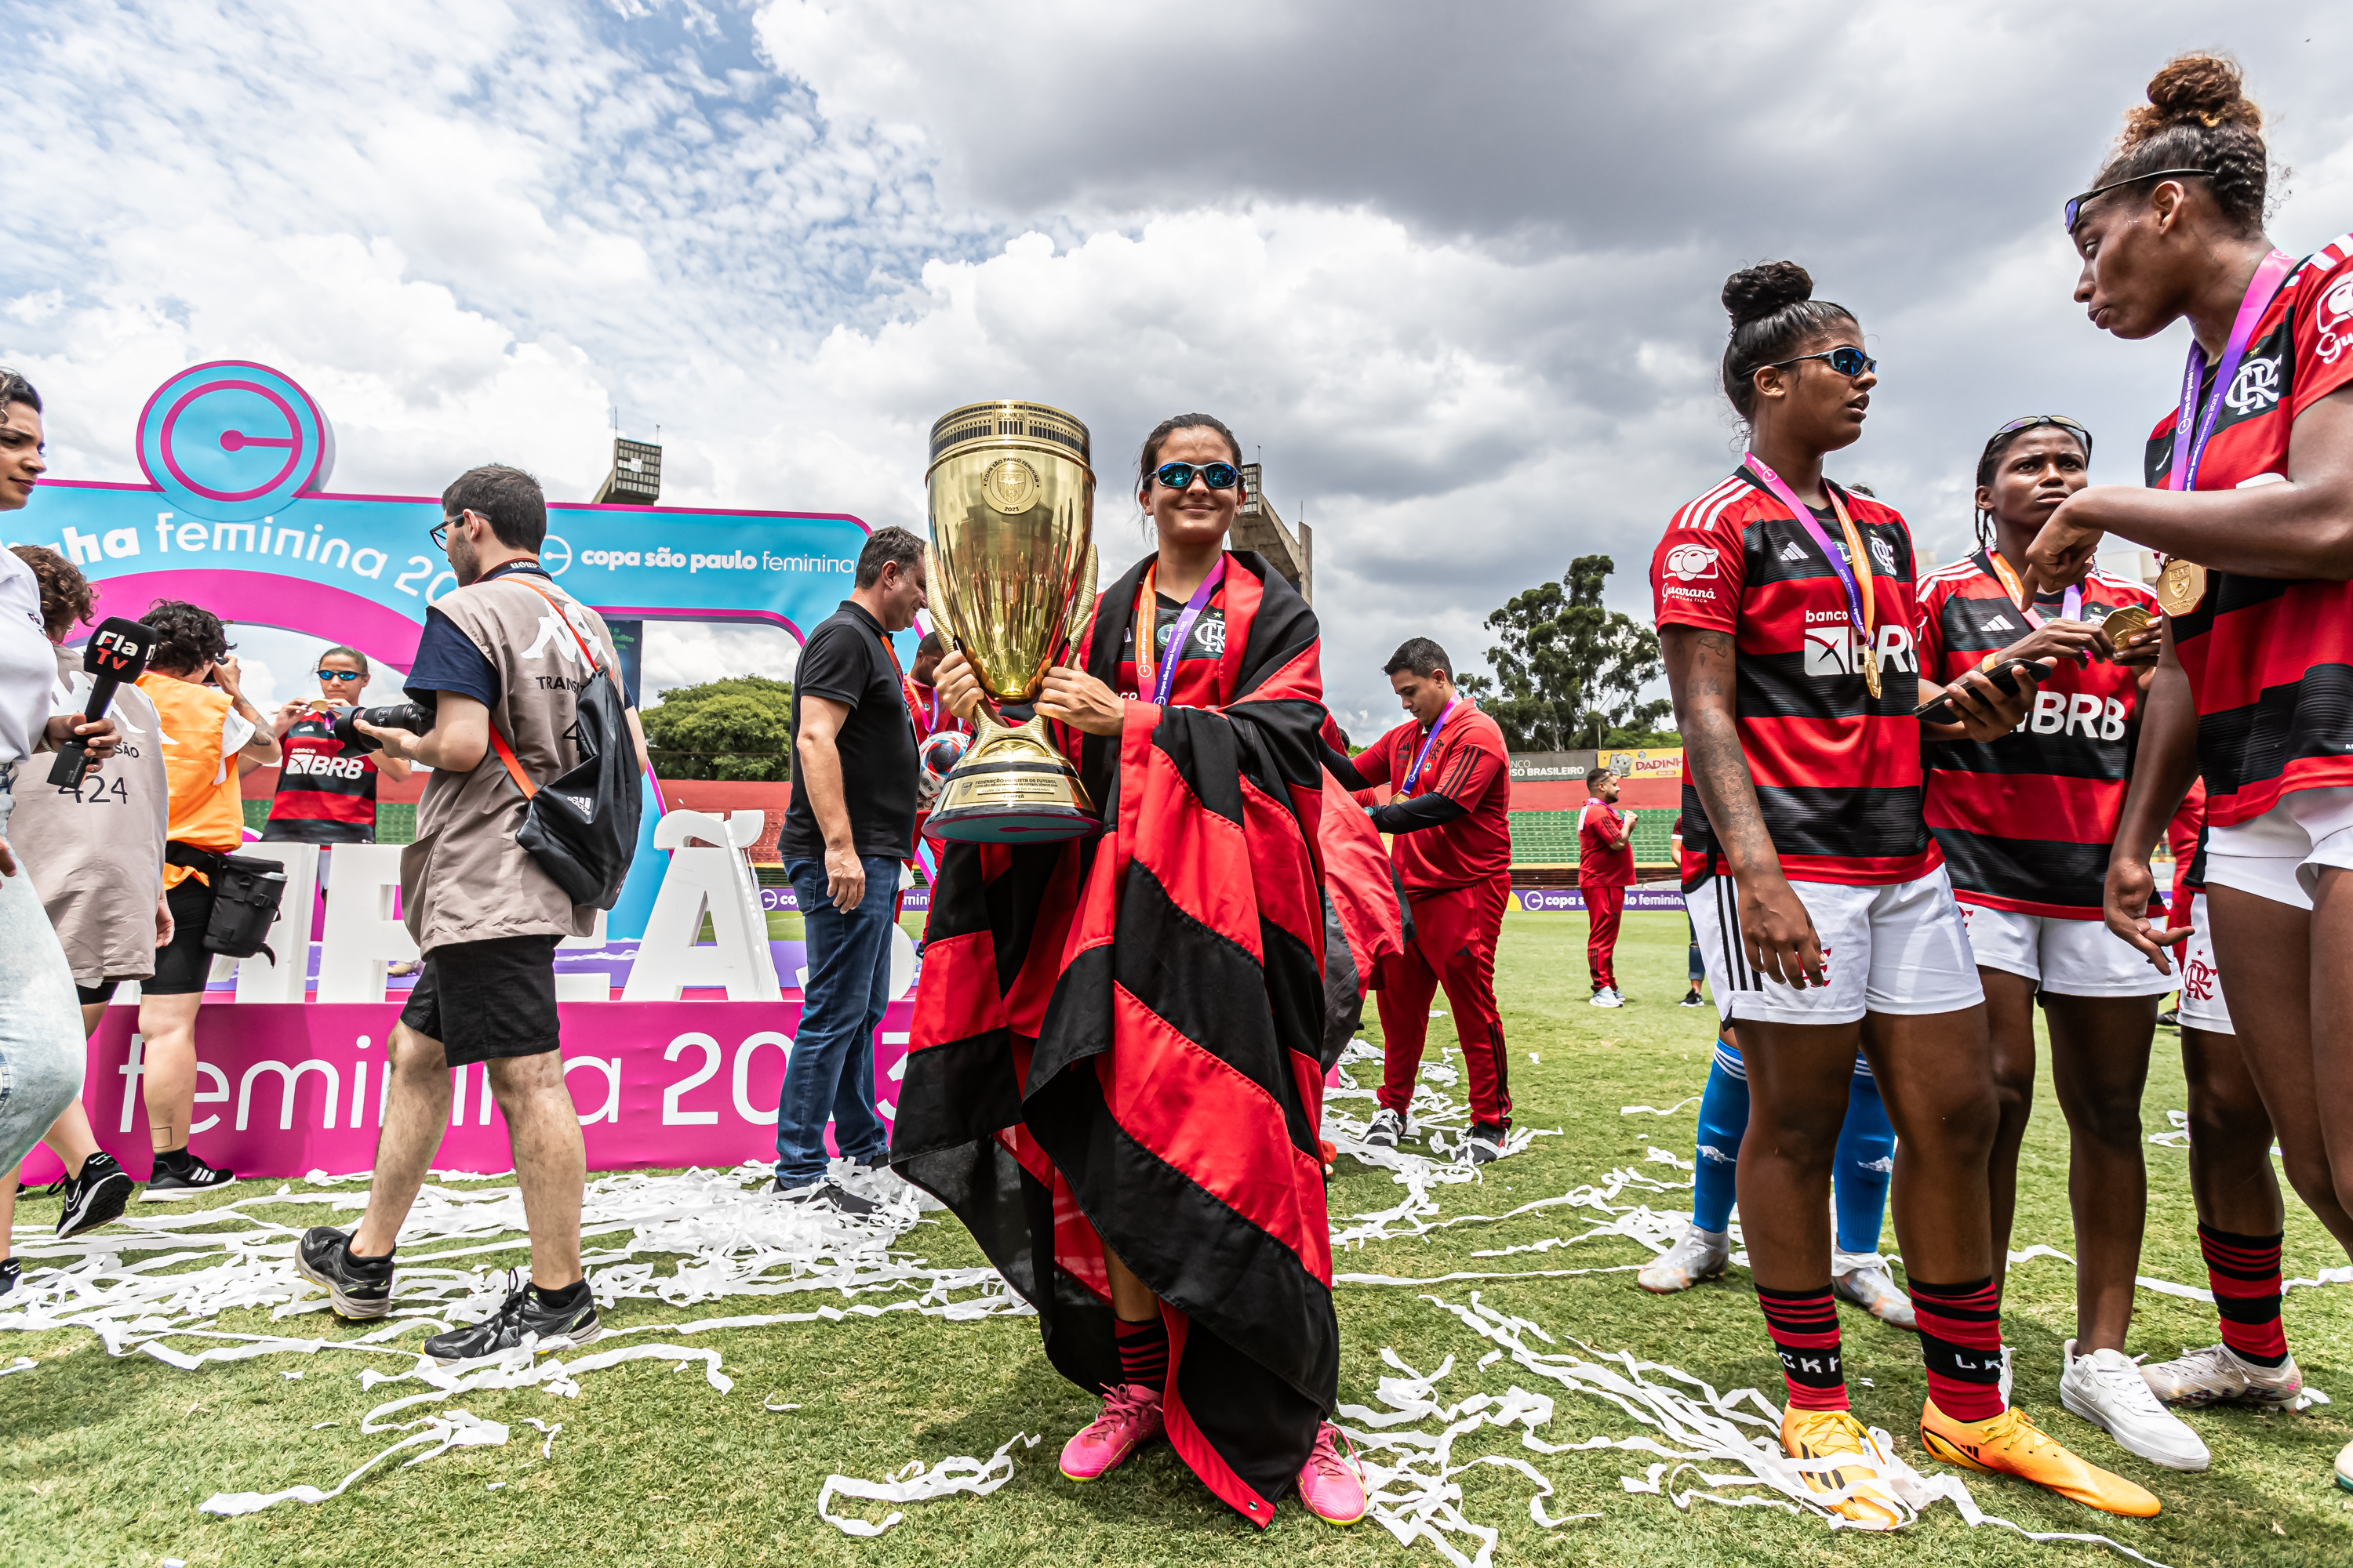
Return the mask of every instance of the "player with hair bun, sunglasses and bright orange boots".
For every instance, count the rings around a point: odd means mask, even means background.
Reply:
[[[1892,508],[1828,482],[1864,433],[1875,364],[1845,306],[1793,261],[1725,282],[1722,383],[1748,454],[1675,512],[1652,557],[1659,637],[1685,738],[1682,898],[1751,1121],[1739,1161],[1748,1267],[1781,1354],[1781,1448],[1868,1530],[1904,1523],[1885,1453],[1847,1408],[1831,1295],[1831,1164],[1861,1048],[1897,1126],[1894,1220],[1927,1406],[1920,1443],[2111,1514],[2158,1500],[2012,1410],[1993,1253],[1993,1070],[1984,990],[1922,818],[1920,719],[1993,741],[2028,682],[1920,679],[1913,548]]]

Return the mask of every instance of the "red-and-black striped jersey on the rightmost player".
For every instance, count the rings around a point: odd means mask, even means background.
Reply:
[[[2224,393],[2198,489],[2287,477],[2297,414],[2353,381],[2353,235],[2306,256],[2257,322]],[[2174,463],[2174,418],[2148,437],[2148,482]],[[2207,820],[2254,820],[2289,790],[2353,785],[2353,583],[2207,574],[2174,618],[2174,651],[2198,701]]]

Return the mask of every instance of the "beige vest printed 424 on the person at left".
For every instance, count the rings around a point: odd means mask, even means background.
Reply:
[[[89,675],[73,649],[56,651],[54,712],[82,712]],[[155,973],[155,898],[172,790],[162,766],[162,724],[139,686],[120,686],[108,708],[122,748],[80,790],[52,790],[19,771],[9,844],[24,856],[73,964],[75,985],[146,980]]]

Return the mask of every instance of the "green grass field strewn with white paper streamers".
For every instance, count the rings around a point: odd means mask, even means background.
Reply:
[[[1518,1159],[1497,1164],[1478,1185],[1440,1187],[1447,1213],[1501,1213],[1529,1199],[1567,1192],[1614,1166],[1640,1166],[1652,1145],[1689,1159],[1692,1110],[1675,1117],[1621,1117],[1621,1105],[1673,1105],[1699,1091],[1713,1011],[1675,1009],[1682,994],[1682,922],[1631,914],[1619,973],[1633,1004],[1619,1013],[1584,1004],[1584,919],[1515,914],[1504,931],[1499,990],[1513,1048],[1513,1093],[1522,1126],[1562,1128]],[[1367,1009],[1369,1011],[1369,1009]],[[1433,1044],[1452,1041],[1445,1020]],[[1541,1060],[1529,1060],[1534,1053]],[[2181,1072],[2172,1034],[2158,1034],[2158,1063],[2144,1121],[2165,1128],[2181,1107]],[[2186,1157],[2151,1147],[2151,1234],[2141,1272],[2202,1286]],[[1666,1166],[1647,1171],[1673,1175]],[[254,1187],[238,1190],[252,1197]],[[1657,1206],[1673,1197],[1654,1199]],[[1341,1161],[1332,1185],[1334,1215],[1388,1208],[1386,1173]],[[264,1211],[273,1213],[273,1211]],[[2021,1173],[2017,1246],[2071,1248],[2066,1218],[2066,1133],[2047,1093]],[[26,1201],[19,1225],[54,1222],[54,1201]],[[287,1206],[289,1225],[318,1220]],[[1475,1260],[1471,1253],[1546,1237],[1577,1234],[1562,1211],[1499,1225],[1464,1225],[1414,1241],[1372,1244],[1346,1253],[1348,1272],[1433,1276],[1449,1269],[1520,1269],[1624,1265],[1642,1258],[1631,1241],[1607,1239],[1567,1251]],[[953,1222],[920,1225],[904,1241],[932,1262],[974,1262],[976,1251]],[[1887,1246],[1894,1246],[1889,1234]],[[520,1253],[515,1255],[520,1260]],[[2325,1232],[2289,1208],[2287,1272],[2341,1265]],[[1758,1387],[1779,1403],[1777,1363],[1746,1274],[1680,1298],[1642,1295],[1631,1274],[1581,1279],[1449,1284],[1428,1293],[1485,1300],[1522,1314],[1555,1335],[1577,1335],[1600,1352],[1631,1349],[1673,1361],[1718,1387]],[[2024,1262],[2009,1274],[2009,1340],[2019,1361],[2019,1403],[2094,1462],[2120,1469],[2165,1500],[2155,1521],[2108,1521],[2087,1509],[1991,1476],[1974,1495],[2033,1530],[2092,1530],[2160,1563],[2346,1563],[2353,1561],[2353,1497],[2329,1486],[2329,1460],[2353,1436],[2353,1291],[2299,1291],[2287,1298],[2287,1328],[2308,1382],[2346,1403],[2306,1415],[2205,1413],[2193,1425],[2214,1450],[2214,1469],[2177,1476],[2120,1453],[2106,1434],[2059,1408],[2059,1342],[2071,1333],[2071,1269],[2054,1260]],[[765,1312],[720,1302],[699,1309],[631,1302],[616,1326]],[[299,1319],[292,1333],[348,1335],[325,1316]],[[1572,1443],[1595,1434],[1628,1436],[1631,1418],[1598,1401],[1532,1380],[1508,1359],[1475,1371],[1487,1349],[1475,1335],[1412,1288],[1346,1286],[1339,1293],[1344,1338],[1341,1399],[1374,1403],[1395,1349],[1421,1371],[1454,1354],[1459,1371],[1442,1387],[1447,1403],[1513,1382],[1558,1394],[1544,1436]],[[266,1314],[224,1314],[221,1328],[266,1331]],[[1847,1361],[1866,1422],[1897,1434],[1925,1472],[1911,1422],[1922,1396],[1920,1349],[1911,1335],[1847,1312]],[[2212,1307],[2141,1293],[2134,1349],[2169,1356],[2207,1345]],[[214,1490],[278,1490],[296,1481],[332,1486],[388,1439],[362,1436],[358,1415],[384,1399],[365,1396],[351,1366],[325,1356],[174,1371],[146,1356],[111,1359],[85,1331],[0,1338],[0,1363],[38,1359],[28,1375],[0,1378],[0,1559],[9,1563],[1405,1563],[1440,1559],[1400,1547],[1372,1521],[1332,1530],[1287,1502],[1275,1528],[1259,1535],[1214,1502],[1165,1448],[1094,1486],[1073,1486],[1054,1469],[1061,1441],[1092,1415],[1092,1401],[1052,1373],[1031,1319],[948,1324],[892,1314],[868,1321],[809,1324],[699,1335],[725,1356],[736,1380],[715,1394],[696,1375],[640,1361],[584,1380],[579,1399],[544,1392],[480,1392],[466,1408],[518,1427],[506,1448],[456,1450],[416,1469],[384,1467],[351,1493],[320,1507],[278,1507],[247,1519],[207,1519],[195,1505]],[[287,1380],[282,1371],[304,1371]],[[391,1389],[398,1394],[400,1389]],[[765,1403],[798,1403],[772,1413]],[[522,1418],[562,1420],[551,1460]],[[313,1422],[339,1422],[313,1432]],[[988,1497],[955,1495],[906,1507],[887,1535],[852,1540],[816,1519],[816,1493],[831,1472],[882,1479],[908,1460],[986,1458],[1014,1432],[1042,1434],[1016,1450],[1019,1469]],[[529,1441],[525,1441],[529,1439]],[[1464,1474],[1461,1509],[1501,1530],[1497,1563],[2113,1563],[2097,1544],[2031,1544],[1998,1528],[1969,1530],[1951,1507],[1932,1509],[1906,1535],[1833,1535],[1817,1521],[1772,1509],[1694,1507],[1678,1512],[1657,1495],[1628,1495],[1619,1476],[1640,1474],[1647,1455],[1534,1455],[1518,1434],[1482,1427],[1457,1441],[1457,1460],[1508,1453],[1551,1476],[1558,1514],[1600,1519],[1539,1530],[1529,1521],[1525,1476],[1480,1467]],[[501,1483],[492,1490],[492,1483]],[[880,1519],[885,1507],[859,1509]],[[1459,1537],[1457,1537],[1459,1540]]]

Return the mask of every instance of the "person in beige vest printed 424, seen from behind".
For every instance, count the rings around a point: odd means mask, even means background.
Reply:
[[[52,701],[61,715],[80,715],[89,675],[64,642],[78,621],[89,621],[89,583],[56,550],[14,545],[12,552],[40,583],[42,630],[56,644]],[[106,1018],[115,987],[155,973],[155,950],[172,940],[172,912],[162,900],[169,802],[155,705],[136,686],[120,686],[106,717],[122,731],[106,771],[71,788],[47,778],[31,783],[19,790],[14,818],[16,858],[66,950],[85,1037]],[[66,1164],[56,1187],[64,1199],[59,1237],[78,1237],[122,1213],[136,1182],[99,1150],[80,1100],[66,1105],[42,1143]],[[0,1175],[0,1258],[14,1218],[16,1173],[9,1171]]]

